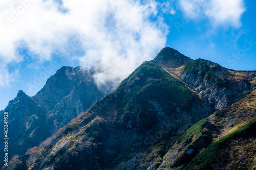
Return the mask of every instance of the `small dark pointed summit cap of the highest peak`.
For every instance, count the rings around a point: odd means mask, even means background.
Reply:
[[[159,65],[165,65],[167,67],[180,67],[190,61],[189,57],[184,56],[174,48],[164,47],[153,60],[155,63]]]

